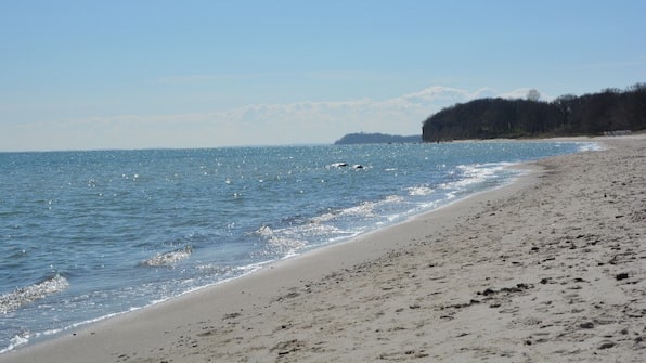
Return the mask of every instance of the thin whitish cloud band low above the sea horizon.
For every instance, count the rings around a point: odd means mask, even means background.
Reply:
[[[118,115],[10,129],[4,150],[216,147],[332,143],[350,132],[418,134],[431,114],[482,96],[525,96],[529,89],[498,93],[430,87],[387,100],[253,104],[222,112]],[[17,141],[29,140],[29,145]]]

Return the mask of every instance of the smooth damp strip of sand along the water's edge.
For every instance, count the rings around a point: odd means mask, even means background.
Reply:
[[[210,286],[204,286],[195,290],[186,291],[180,296],[171,297],[160,302],[138,308],[131,311],[124,311],[106,316],[101,316],[90,322],[81,322],[77,327],[68,327],[62,332],[54,333],[53,338],[39,337],[39,340],[36,340],[35,342],[18,345],[16,348],[12,350],[9,350],[4,353],[0,353],[0,363],[4,362],[3,359],[14,354],[22,356],[25,353],[27,356],[29,356],[34,354],[34,352],[29,352],[31,350],[43,350],[48,352],[47,355],[40,356],[37,353],[34,358],[30,358],[35,359],[35,362],[40,362],[39,359],[42,359],[42,362],[52,362],[52,356],[50,355],[51,352],[49,351],[49,349],[51,348],[48,348],[48,346],[54,347],[54,351],[61,350],[61,354],[64,355],[68,353],[66,349],[64,349],[64,346],[73,343],[73,340],[77,340],[77,337],[83,335],[94,336],[100,333],[106,334],[107,332],[109,332],[107,334],[112,334],[113,326],[111,325],[119,325],[124,323],[132,324],[132,322],[134,321],[147,320],[150,319],[150,316],[147,316],[148,313],[151,315],[165,315],[168,313],[168,311],[182,310],[183,304],[195,303],[196,300],[202,299],[212,299],[218,300],[218,302],[221,302],[219,301],[221,299],[224,301],[224,304],[227,306],[244,306],[245,303],[242,302],[241,304],[241,301],[238,301],[236,298],[222,298],[221,296],[216,295],[232,294],[232,291],[234,295],[245,295],[246,288],[250,290],[260,290],[259,293],[256,293],[257,295],[260,295],[263,298],[272,294],[277,296],[280,290],[290,289],[287,288],[286,285],[299,285],[303,283],[305,280],[322,280],[325,278],[330,273],[335,273],[337,270],[347,270],[348,267],[352,267],[354,264],[370,263],[374,259],[378,259],[386,254],[397,250],[397,248],[402,245],[402,243],[389,242],[390,239],[386,238],[387,236],[397,237],[399,239],[405,241],[408,237],[406,230],[410,225],[415,225],[421,222],[426,224],[428,223],[428,219],[435,220],[436,218],[434,217],[438,217],[440,220],[442,220],[442,223],[445,223],[445,220],[462,215],[464,208],[468,208],[468,206],[470,206],[474,202],[479,200],[480,198],[504,198],[504,191],[506,191],[507,189],[515,190],[517,187],[524,187],[522,183],[534,182],[532,179],[522,181],[526,178],[532,178],[534,172],[540,172],[540,168],[532,166],[532,164],[533,163],[520,163],[506,167],[509,169],[524,171],[519,176],[514,177],[512,182],[507,184],[503,184],[491,190],[475,193],[473,195],[460,198],[454,202],[450,202],[445,205],[422,212],[419,215],[410,216],[405,220],[396,224],[387,225],[383,229],[374,231],[369,231],[359,236],[349,238],[340,243],[318,247],[315,249],[308,250],[302,255],[296,255],[294,257],[281,260],[269,261],[263,263],[262,267],[258,270],[253,271],[250,273],[236,276],[227,281],[218,282]],[[498,195],[498,193],[502,194]],[[440,212],[442,213],[441,216],[436,216],[436,213]],[[413,228],[413,230],[418,231],[417,226]],[[410,238],[414,239],[414,234],[416,234],[416,232],[413,233],[410,236]],[[401,237],[402,235],[404,236],[403,238]],[[343,259],[338,259],[338,256],[345,257]],[[322,261],[324,263],[322,263]],[[315,263],[314,269],[311,269],[312,263]],[[289,278],[293,272],[298,273],[298,281]],[[303,274],[302,272],[306,273]],[[285,278],[285,276],[287,276],[288,278]],[[279,283],[274,284],[274,282]],[[266,285],[266,283],[269,284]],[[237,286],[237,284],[241,284],[241,286]],[[260,288],[260,286],[269,286],[269,288]],[[275,290],[273,289],[274,287],[276,288]],[[153,312],[153,310],[158,311]],[[241,308],[241,310],[244,309]],[[144,316],[138,316],[138,314],[143,314]],[[235,312],[233,312],[232,314],[235,314]],[[227,315],[223,316],[225,317]],[[134,324],[138,325],[139,323]],[[113,337],[109,338],[109,340],[113,339]],[[59,345],[61,345],[62,347],[55,347]],[[78,342],[74,342],[74,345],[87,346],[88,342],[83,341],[81,338],[81,340],[79,340]],[[69,358],[66,356],[65,361],[68,360]],[[62,361],[63,358],[61,362]]]

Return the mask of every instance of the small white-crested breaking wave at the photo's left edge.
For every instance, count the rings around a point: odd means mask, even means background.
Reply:
[[[69,282],[67,278],[56,274],[41,283],[18,288],[12,293],[0,296],[0,313],[4,314],[14,311],[26,303],[60,293],[68,286]]]

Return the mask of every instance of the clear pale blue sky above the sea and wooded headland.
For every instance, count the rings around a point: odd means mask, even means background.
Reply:
[[[646,1],[1,0],[0,151],[333,143],[646,81]]]

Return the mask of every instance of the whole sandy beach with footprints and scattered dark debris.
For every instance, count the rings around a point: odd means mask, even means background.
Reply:
[[[0,362],[643,362],[646,138]]]

